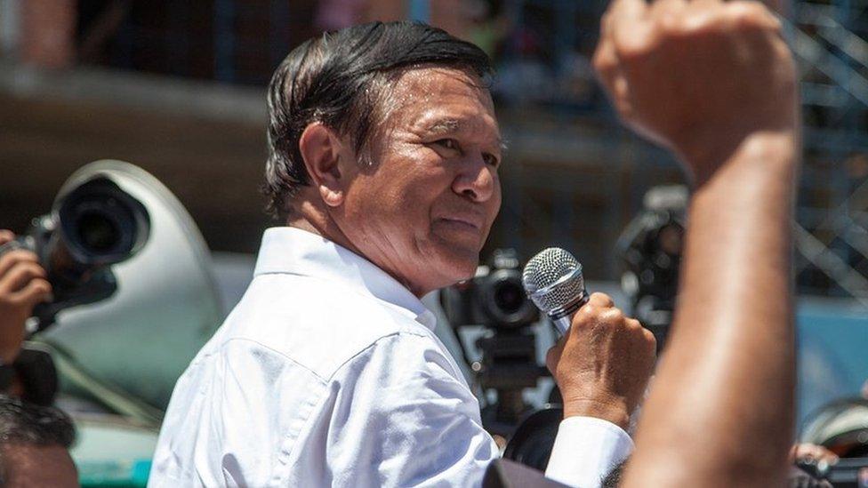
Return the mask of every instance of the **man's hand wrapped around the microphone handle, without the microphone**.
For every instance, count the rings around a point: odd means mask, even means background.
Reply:
[[[626,429],[655,363],[655,338],[593,293],[567,335],[546,356],[564,399],[564,416],[608,420]]]

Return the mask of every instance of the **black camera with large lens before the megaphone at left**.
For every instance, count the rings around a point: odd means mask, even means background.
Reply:
[[[117,290],[110,266],[129,259],[148,240],[149,213],[133,196],[96,177],[58,197],[52,212],[28,232],[0,246],[34,252],[52,284],[53,299],[34,308],[38,332],[63,308],[109,298]]]

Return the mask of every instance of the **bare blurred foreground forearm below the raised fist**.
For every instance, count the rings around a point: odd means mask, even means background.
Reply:
[[[700,182],[671,342],[627,486],[768,485],[770,466],[784,472],[797,142],[795,132],[753,134]]]

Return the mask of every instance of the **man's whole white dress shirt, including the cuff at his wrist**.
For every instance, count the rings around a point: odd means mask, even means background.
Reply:
[[[175,385],[149,486],[478,486],[497,446],[435,319],[323,237],[269,228],[253,282]],[[632,447],[560,425],[547,476],[597,486]]]

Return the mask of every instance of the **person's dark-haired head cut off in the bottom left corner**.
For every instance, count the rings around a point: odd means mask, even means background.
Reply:
[[[78,486],[72,420],[52,407],[0,396],[0,486]]]

